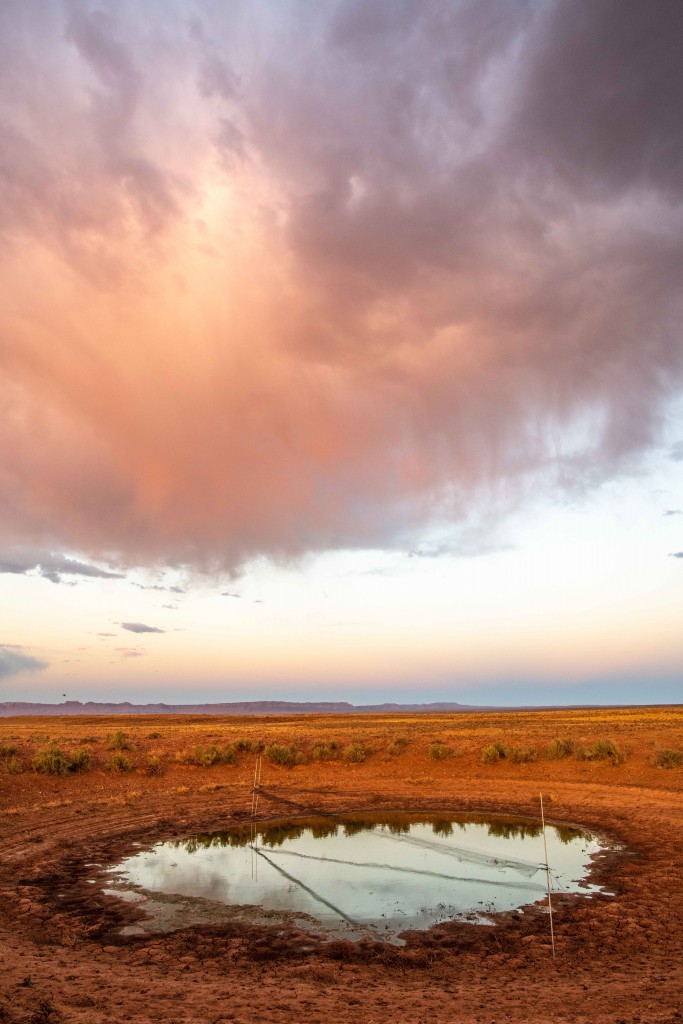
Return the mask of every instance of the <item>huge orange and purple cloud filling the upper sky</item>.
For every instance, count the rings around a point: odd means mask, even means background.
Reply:
[[[3,4],[0,543],[419,550],[631,468],[683,381],[682,37],[643,0]]]

